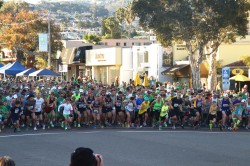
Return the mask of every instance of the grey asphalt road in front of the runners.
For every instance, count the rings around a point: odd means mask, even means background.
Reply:
[[[67,166],[77,147],[91,147],[105,166],[246,166],[250,132],[82,129],[0,134],[0,156],[17,166]]]

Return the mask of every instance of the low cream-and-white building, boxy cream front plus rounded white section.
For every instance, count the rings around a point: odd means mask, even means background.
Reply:
[[[170,76],[161,74],[167,68],[162,63],[164,55],[165,48],[159,44],[93,49],[86,51],[86,68],[93,79],[104,84],[115,82],[116,77],[120,83],[128,83],[137,73],[146,73],[160,82],[171,81]]]

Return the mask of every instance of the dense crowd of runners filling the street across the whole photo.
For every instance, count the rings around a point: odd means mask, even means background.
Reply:
[[[96,81],[3,81],[0,131],[61,127],[250,129],[250,96],[192,89],[180,83],[105,86]]]

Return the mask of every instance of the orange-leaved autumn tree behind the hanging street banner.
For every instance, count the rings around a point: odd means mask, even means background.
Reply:
[[[1,45],[11,49],[19,60],[25,59],[26,65],[30,65],[29,59],[38,50],[38,34],[48,31],[48,21],[43,20],[38,12],[18,10],[16,13],[9,11],[0,13],[0,40]],[[51,53],[56,54],[62,50],[63,45],[60,29],[51,21]],[[41,53],[46,58],[45,53]],[[23,57],[24,56],[24,57]]]

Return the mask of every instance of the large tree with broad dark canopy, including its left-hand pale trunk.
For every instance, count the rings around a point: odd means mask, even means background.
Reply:
[[[248,9],[246,0],[135,0],[132,5],[140,25],[152,29],[162,45],[185,42],[197,89],[204,57],[216,53],[222,42],[247,34]]]

